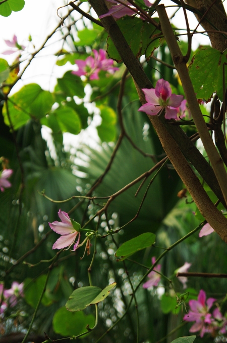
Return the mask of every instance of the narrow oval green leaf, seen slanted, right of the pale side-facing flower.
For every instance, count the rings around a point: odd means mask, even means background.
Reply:
[[[115,256],[122,257],[120,261],[123,261],[135,252],[151,246],[154,242],[155,235],[151,232],[145,232],[142,235],[123,243],[116,251]]]

